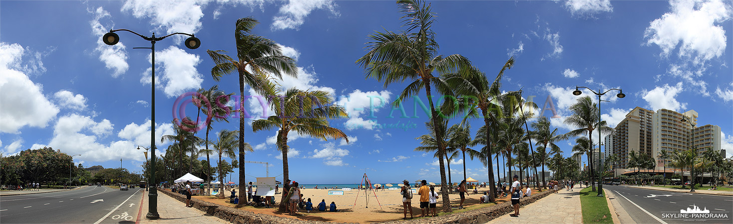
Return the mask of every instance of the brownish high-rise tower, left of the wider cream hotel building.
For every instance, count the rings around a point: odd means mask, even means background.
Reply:
[[[619,163],[614,168],[626,169],[630,151],[652,155],[652,116],[649,109],[636,107],[626,114],[624,120],[616,125],[616,155]]]

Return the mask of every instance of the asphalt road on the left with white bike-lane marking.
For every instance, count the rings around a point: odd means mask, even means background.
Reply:
[[[2,223],[135,223],[143,191],[91,186],[0,197]]]

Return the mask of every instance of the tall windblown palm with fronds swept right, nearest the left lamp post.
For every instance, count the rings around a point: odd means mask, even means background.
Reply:
[[[215,81],[221,80],[225,74],[237,72],[239,77],[239,93],[244,96],[244,86],[249,85],[255,92],[267,95],[266,88],[270,75],[281,78],[282,74],[296,77],[298,68],[295,60],[282,54],[280,45],[262,36],[252,34],[252,28],[259,23],[254,18],[240,18],[235,24],[235,42],[237,44],[237,60],[225,55],[224,50],[207,50],[211,59],[216,63],[211,69],[211,77]],[[239,180],[245,183],[244,173],[244,104],[240,104],[239,117]],[[245,192],[246,186],[239,185],[239,192]],[[247,199],[240,200],[240,204],[246,204]]]

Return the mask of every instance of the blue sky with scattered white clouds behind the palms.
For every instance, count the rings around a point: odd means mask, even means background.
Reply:
[[[723,148],[733,150],[731,1],[430,3],[438,15],[432,28],[439,53],[464,55],[491,78],[515,55],[502,89],[522,88],[539,107],[550,96],[561,117],[552,119],[553,128],[561,133],[574,129],[562,120],[577,99],[571,94],[575,85],[622,88],[625,99],[604,97],[611,102],[603,103],[603,119],[612,125],[634,107],[695,109],[699,124],[721,126]],[[128,28],[146,36],[185,32],[201,39],[196,50],[183,46],[183,36],[156,45],[159,139],[173,134],[170,121],[181,94],[212,85],[238,94],[235,75],[213,81],[206,50],[235,52],[235,20],[248,16],[260,22],[255,34],[278,42],[298,61],[298,79],[286,77],[279,80],[282,85],[330,91],[350,114],[331,121],[350,144],[290,134],[291,179],[353,183],[366,171],[372,182],[440,181],[437,160],[413,151],[419,146],[415,138],[427,134],[428,116],[413,101],[405,102],[409,118],[400,118],[399,110],[389,117],[391,108],[377,105],[377,96],[394,101],[407,83],[383,88],[364,80],[364,70],[354,63],[365,53],[367,35],[400,29],[394,1],[0,1],[0,151],[12,155],[50,146],[81,154],[75,162],[84,166],[114,168],[122,159],[123,167],[140,172],[145,158],[135,148],[150,144],[150,51],[132,47],[150,42],[118,32],[120,44],[108,46],[101,36]],[[369,96],[375,99],[374,117]],[[256,102],[246,107],[262,115]],[[183,111],[196,116],[191,104]],[[375,125],[397,123],[408,125]],[[472,120],[472,131],[481,124]],[[236,129],[238,120],[213,127],[211,136]],[[270,175],[281,174],[275,131],[253,133],[249,126],[244,131],[256,149],[246,160],[271,163]],[[566,156],[570,142],[559,143]],[[451,168],[455,182],[463,176],[460,161]],[[468,176],[487,180],[479,161],[466,161],[466,168]],[[247,164],[246,171],[248,178],[265,177],[263,165]]]

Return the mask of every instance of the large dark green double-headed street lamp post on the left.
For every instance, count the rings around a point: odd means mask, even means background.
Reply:
[[[155,167],[155,42],[161,41],[165,39],[168,36],[173,36],[175,34],[183,34],[190,36],[188,39],[185,39],[184,45],[185,47],[188,47],[188,49],[196,49],[201,46],[201,41],[194,36],[194,34],[185,34],[185,33],[173,33],[168,34],[166,36],[161,37],[155,37],[155,33],[152,33],[152,36],[147,37],[140,35],[136,33],[135,31],[130,31],[128,29],[116,29],[116,30],[110,30],[107,34],[104,34],[102,36],[102,42],[104,42],[106,45],[116,45],[117,42],[119,42],[119,36],[115,34],[114,32],[117,31],[128,31],[130,33],[136,34],[140,36],[142,39],[145,39],[147,41],[150,41],[151,47],[133,47],[135,49],[150,49],[152,52],[152,80],[150,84],[150,88],[152,88],[151,92],[151,102],[150,102],[150,166]],[[160,215],[158,215],[158,190],[155,187],[155,172],[150,173],[150,182],[148,182],[148,186],[150,187],[150,190],[148,190],[148,198],[150,199],[150,203],[148,206],[148,212],[147,215],[145,215],[145,218],[149,220],[157,220],[161,218]]]

